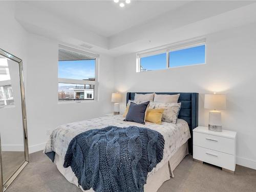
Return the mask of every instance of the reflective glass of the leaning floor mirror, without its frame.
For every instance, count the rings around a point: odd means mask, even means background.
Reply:
[[[0,56],[0,133],[3,183],[25,162],[19,64]]]

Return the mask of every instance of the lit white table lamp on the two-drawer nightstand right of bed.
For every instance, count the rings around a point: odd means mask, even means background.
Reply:
[[[226,95],[205,94],[204,108],[213,110],[209,111],[208,129],[210,131],[222,132],[221,112],[217,110],[226,109]]]

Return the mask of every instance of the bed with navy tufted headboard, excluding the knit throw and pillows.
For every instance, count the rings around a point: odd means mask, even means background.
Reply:
[[[131,93],[126,95],[126,103],[129,100],[134,100],[135,94],[148,93]],[[164,181],[174,177],[173,170],[179,165],[182,159],[192,152],[192,131],[198,126],[198,93],[156,93],[163,95],[179,95],[178,102],[181,103],[177,123],[162,122],[156,124],[145,122],[138,124],[136,122],[123,121],[122,115],[104,116],[100,118],[79,121],[58,126],[51,134],[49,141],[46,144],[44,153],[56,164],[59,172],[71,183],[83,188],[78,183],[78,179],[69,166],[65,168],[65,155],[69,148],[69,144],[77,135],[94,129],[103,129],[108,126],[116,127],[146,127],[147,129],[156,131],[163,136],[164,148],[162,159],[157,165],[147,174],[146,184],[144,185],[145,192],[156,192]],[[132,171],[132,170],[131,170]],[[83,190],[93,192],[89,190]],[[100,190],[99,190],[100,191]],[[107,190],[102,190],[107,191]],[[115,191],[115,190],[113,190]],[[127,189],[127,191],[129,191]]]

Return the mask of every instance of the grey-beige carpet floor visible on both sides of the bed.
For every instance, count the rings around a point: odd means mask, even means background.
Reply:
[[[236,174],[219,167],[200,164],[187,156],[174,170],[175,178],[166,181],[158,192],[185,191],[256,191],[256,170],[237,166]],[[30,155],[30,163],[6,192],[81,192],[69,183],[56,166],[42,154]]]

